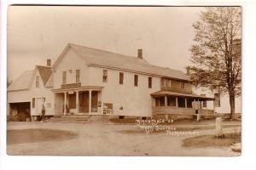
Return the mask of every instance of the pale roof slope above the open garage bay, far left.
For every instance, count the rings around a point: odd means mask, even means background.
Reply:
[[[16,78],[15,81],[9,85],[8,91],[28,89],[33,73],[34,70],[22,72],[20,77]]]

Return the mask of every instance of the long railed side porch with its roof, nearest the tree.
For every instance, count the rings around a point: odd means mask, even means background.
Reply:
[[[169,91],[160,91],[151,94],[153,97],[154,115],[195,115],[213,116],[214,109],[207,109],[206,102],[214,100],[196,94],[182,94]]]

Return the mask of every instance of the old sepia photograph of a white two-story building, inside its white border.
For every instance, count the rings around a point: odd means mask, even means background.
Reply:
[[[241,6],[10,5],[9,156],[241,156]]]

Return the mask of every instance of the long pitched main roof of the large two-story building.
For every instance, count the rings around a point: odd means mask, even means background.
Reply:
[[[106,66],[125,71],[138,71],[160,77],[172,77],[179,80],[189,81],[189,77],[184,74],[183,71],[150,65],[145,59],[139,59],[124,54],[116,54],[102,49],[88,48],[72,43],[67,44],[67,47],[64,49],[59,59],[55,61],[53,68],[61,62],[61,58],[68,48],[72,48],[73,51],[84,59],[84,62],[88,65]]]

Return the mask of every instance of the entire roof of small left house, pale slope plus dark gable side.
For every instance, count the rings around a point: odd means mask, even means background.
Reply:
[[[34,70],[22,72],[20,77],[16,78],[15,81],[9,85],[8,91],[29,89],[32,78],[35,76],[37,70],[45,85],[51,75],[50,67],[36,65]]]

